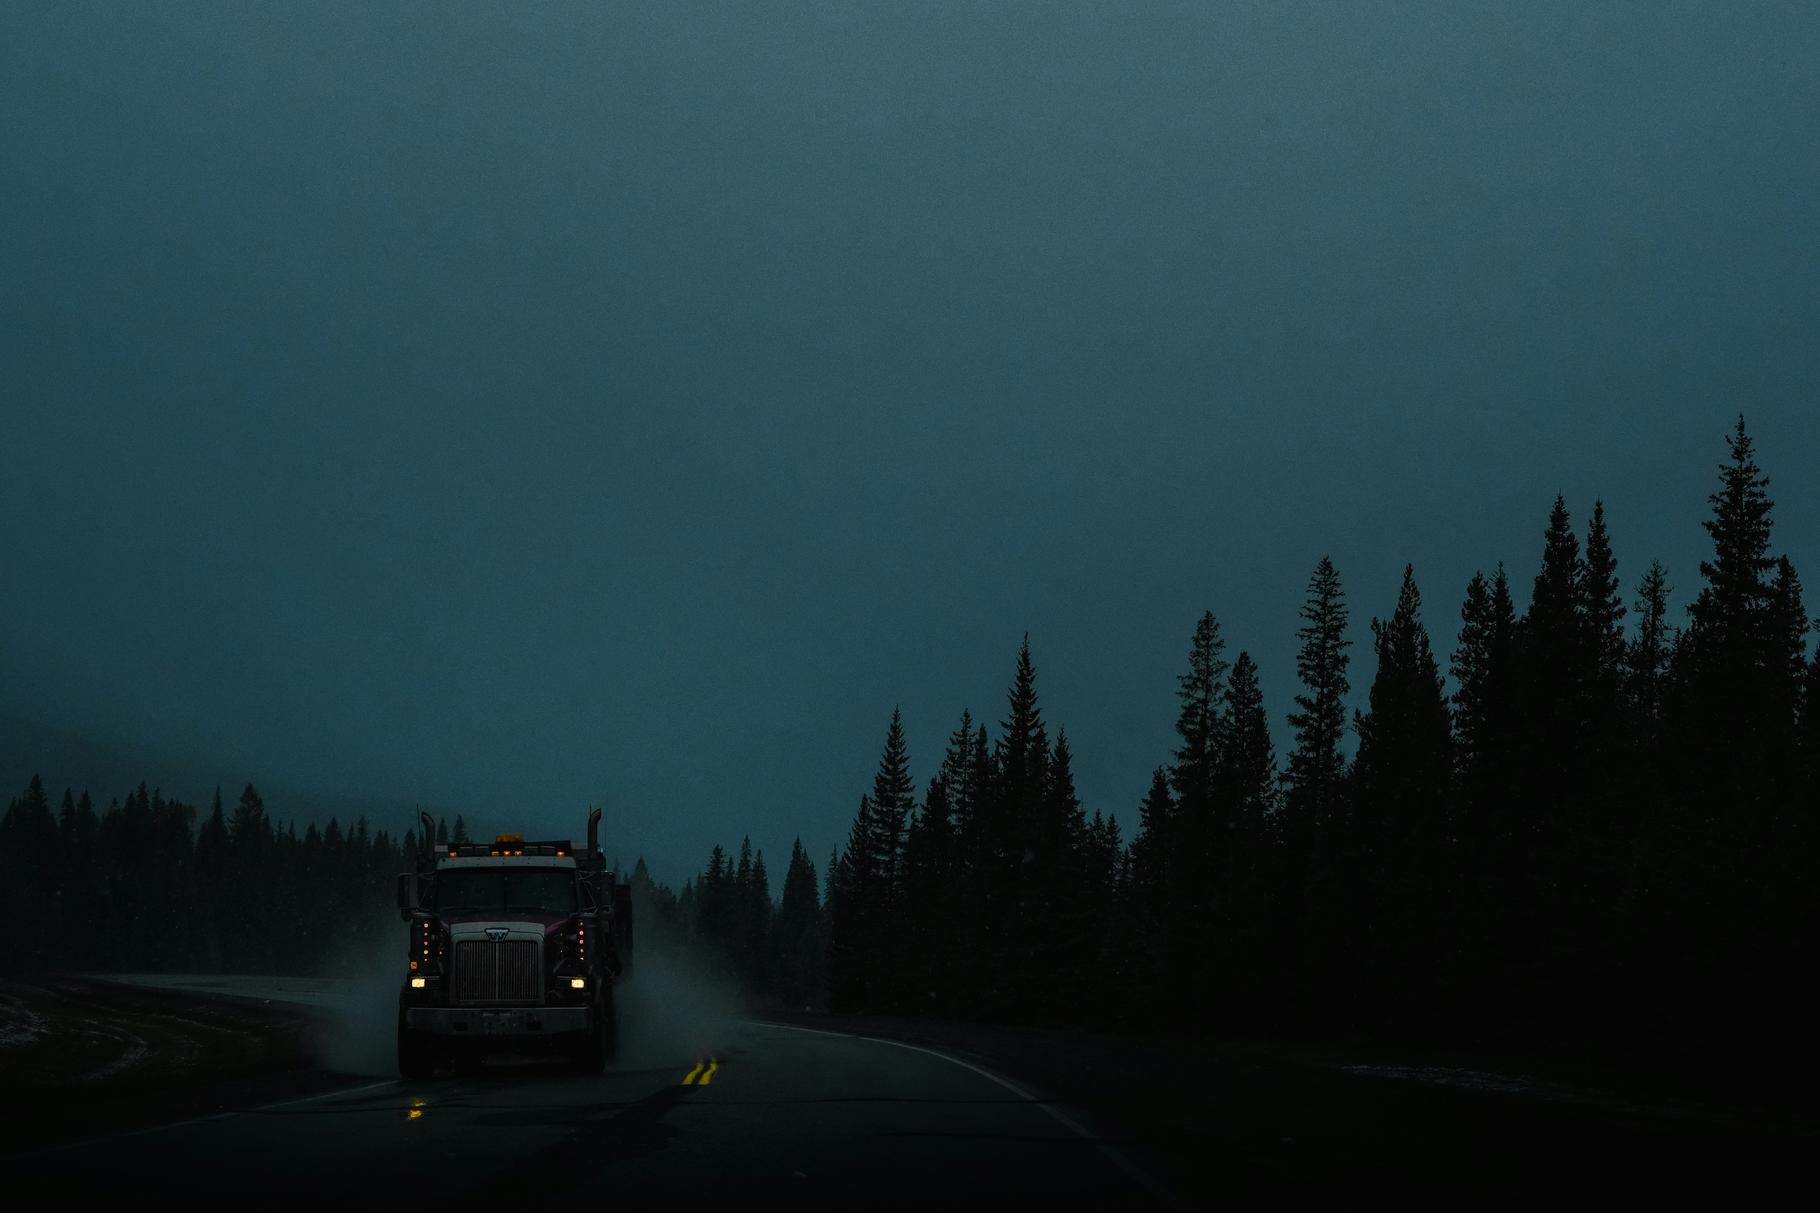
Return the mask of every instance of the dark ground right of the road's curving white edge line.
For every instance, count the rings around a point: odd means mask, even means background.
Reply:
[[[1494,1062],[888,1017],[777,1022],[941,1049],[1079,1109],[1194,1206],[1738,1195],[1811,1175],[1811,1115],[1663,1100]]]

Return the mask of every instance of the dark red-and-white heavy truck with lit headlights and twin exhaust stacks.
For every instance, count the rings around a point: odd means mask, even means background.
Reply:
[[[601,853],[601,809],[581,851],[522,835],[439,844],[419,817],[417,871],[399,875],[399,1073],[508,1049],[601,1073],[619,1038],[613,984],[632,975],[632,887]]]

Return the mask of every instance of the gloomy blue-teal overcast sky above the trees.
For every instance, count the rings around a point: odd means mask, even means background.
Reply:
[[[15,0],[0,709],[781,875],[1028,631],[1132,822],[1203,609],[1281,751],[1738,411],[1820,587],[1816,211],[1811,4]]]

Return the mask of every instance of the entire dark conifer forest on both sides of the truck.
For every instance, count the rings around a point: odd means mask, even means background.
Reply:
[[[1119,813],[1076,795],[1026,642],[996,729],[963,711],[921,787],[892,715],[821,875],[801,842],[775,900],[750,840],[681,893],[639,860],[641,953],[695,949],[790,1007],[1805,1053],[1820,660],[1771,524],[1740,418],[1685,618],[1660,564],[1620,573],[1598,502],[1554,502],[1522,613],[1529,571],[1485,567],[1454,618],[1405,569],[1356,627],[1321,558],[1287,751],[1207,613],[1172,760]],[[389,949],[417,842],[298,833],[253,787],[231,809],[144,786],[96,809],[33,780],[0,822],[4,962],[349,973]]]

